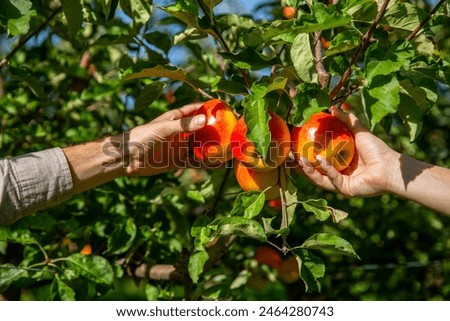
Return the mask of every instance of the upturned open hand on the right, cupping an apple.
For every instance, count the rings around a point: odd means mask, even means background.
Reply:
[[[302,174],[317,186],[348,197],[374,196],[389,189],[390,169],[399,158],[381,139],[365,128],[353,114],[330,108],[331,113],[343,121],[355,136],[356,154],[350,166],[342,173],[324,157],[317,156],[321,174],[305,158],[300,160]]]

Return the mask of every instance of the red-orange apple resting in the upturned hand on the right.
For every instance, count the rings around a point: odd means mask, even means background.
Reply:
[[[316,156],[326,158],[338,171],[346,169],[355,155],[353,134],[338,118],[327,113],[316,113],[291,133],[294,158],[304,157],[319,171]]]

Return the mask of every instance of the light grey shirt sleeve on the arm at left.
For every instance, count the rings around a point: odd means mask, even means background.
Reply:
[[[0,159],[0,226],[66,200],[72,188],[60,148]]]

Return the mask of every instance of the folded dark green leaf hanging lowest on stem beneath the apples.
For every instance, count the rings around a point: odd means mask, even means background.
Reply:
[[[294,251],[299,266],[300,278],[305,283],[306,292],[320,292],[320,278],[325,275],[325,264],[321,258],[307,250]]]

